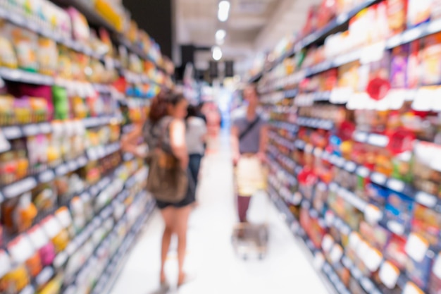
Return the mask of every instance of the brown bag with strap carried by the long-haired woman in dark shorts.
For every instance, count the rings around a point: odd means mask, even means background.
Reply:
[[[161,132],[161,140],[156,148],[147,155],[146,162],[149,165],[147,190],[156,200],[178,203],[187,195],[189,180],[187,171],[180,166],[180,161],[173,154],[168,154],[161,149],[168,125],[170,123],[167,123]]]

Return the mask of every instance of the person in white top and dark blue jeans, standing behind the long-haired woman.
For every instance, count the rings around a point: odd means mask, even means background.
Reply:
[[[187,109],[187,151],[190,157],[188,167],[194,180],[198,183],[201,160],[205,153],[206,123],[198,116],[197,106],[190,105]]]

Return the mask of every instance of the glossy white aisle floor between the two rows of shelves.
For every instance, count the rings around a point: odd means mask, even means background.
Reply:
[[[209,155],[204,162],[200,205],[190,219],[187,272],[194,274],[195,279],[179,292],[169,293],[328,293],[273,205],[266,208],[268,200],[263,195],[255,197],[251,204],[250,219],[268,218],[271,230],[268,256],[263,262],[243,262],[235,257],[230,244],[236,217],[228,156],[228,137],[224,135],[220,152]],[[156,213],[130,253],[112,294],[157,293],[162,229],[161,216]],[[174,249],[172,243],[166,266],[172,284],[177,273]]]

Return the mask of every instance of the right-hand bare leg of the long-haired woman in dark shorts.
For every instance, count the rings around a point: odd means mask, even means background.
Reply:
[[[192,207],[190,205],[176,209],[175,211],[175,233],[178,235],[178,286],[185,282],[185,273],[183,267],[185,261],[185,252],[187,250],[187,228],[190,212],[192,212]]]

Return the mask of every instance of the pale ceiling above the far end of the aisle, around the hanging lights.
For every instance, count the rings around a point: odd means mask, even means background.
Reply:
[[[321,0],[229,1],[230,16],[221,23],[217,17],[219,0],[175,0],[175,42],[213,47],[216,31],[224,29],[223,60],[234,60],[235,70],[242,74],[256,54],[273,49],[282,37],[299,30],[309,6]],[[207,68],[210,60],[210,51],[198,51],[195,65]]]

